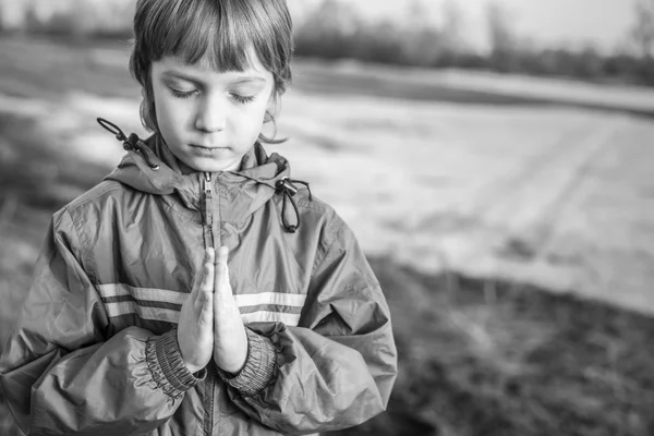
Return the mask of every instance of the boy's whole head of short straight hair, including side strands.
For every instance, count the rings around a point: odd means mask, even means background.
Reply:
[[[206,59],[219,72],[250,66],[252,47],[272,73],[274,101],[279,102],[292,80],[292,21],[286,0],[138,0],[130,72],[143,87],[141,120],[158,132],[150,78],[153,62],[179,56],[195,64]],[[275,113],[265,121],[275,123]],[[259,141],[277,143],[263,134]]]

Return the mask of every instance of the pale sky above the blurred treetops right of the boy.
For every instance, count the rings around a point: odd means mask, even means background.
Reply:
[[[311,3],[320,0],[289,0]],[[405,14],[410,0],[342,0],[355,5],[371,20]],[[491,0],[425,0],[432,17],[438,20],[446,1],[452,1],[464,16],[464,37],[475,47],[487,46],[485,10]],[[509,13],[519,35],[544,45],[591,43],[603,50],[619,46],[634,21],[635,0],[494,0]],[[296,7],[296,5],[295,5]]]

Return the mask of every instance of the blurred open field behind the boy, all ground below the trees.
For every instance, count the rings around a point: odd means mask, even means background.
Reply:
[[[3,340],[52,211],[123,153],[95,117],[143,131],[120,47],[0,57]],[[360,237],[400,351],[388,412],[342,434],[654,434],[652,122],[315,68],[278,150]]]

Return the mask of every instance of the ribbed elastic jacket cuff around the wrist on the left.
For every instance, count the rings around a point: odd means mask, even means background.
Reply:
[[[180,353],[177,328],[148,340],[145,347],[145,359],[157,385],[172,398],[196,386],[206,376],[206,370],[194,375],[186,367]]]

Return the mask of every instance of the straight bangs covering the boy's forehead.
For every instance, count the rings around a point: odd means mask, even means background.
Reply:
[[[147,0],[146,0],[147,2]],[[142,43],[150,61],[177,56],[189,64],[218,71],[251,68],[251,49],[268,70],[276,70],[278,39],[268,1],[149,0]],[[138,28],[135,23],[135,28]]]

